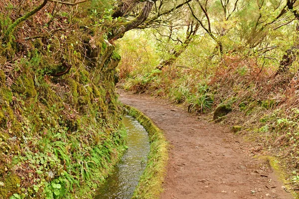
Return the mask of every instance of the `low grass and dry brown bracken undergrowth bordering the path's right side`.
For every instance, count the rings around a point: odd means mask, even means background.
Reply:
[[[215,71],[205,77],[194,70],[169,66],[122,80],[122,87],[169,99],[192,113],[211,115],[219,104],[231,103],[232,111],[218,121],[240,126],[238,133],[250,141],[253,154],[276,157],[292,183],[291,189],[297,190],[299,74],[274,76],[274,70],[260,71],[255,63],[244,69],[238,56],[224,56]]]

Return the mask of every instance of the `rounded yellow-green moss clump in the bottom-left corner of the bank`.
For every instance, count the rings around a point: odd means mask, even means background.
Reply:
[[[12,194],[18,192],[21,180],[16,175],[7,174],[0,178],[0,182],[4,184],[4,186],[0,186],[0,196],[4,199],[8,199]]]

